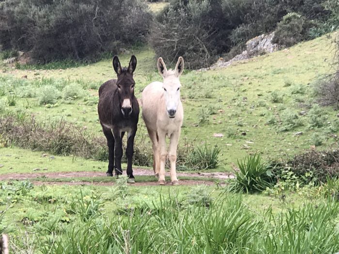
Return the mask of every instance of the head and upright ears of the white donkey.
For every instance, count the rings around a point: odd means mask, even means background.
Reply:
[[[165,103],[167,109],[167,115],[169,118],[175,118],[175,113],[180,102],[180,81],[179,76],[184,70],[184,59],[179,57],[175,66],[175,70],[167,70],[166,65],[162,58],[158,59],[158,70],[160,75],[163,76],[163,89],[165,96]]]

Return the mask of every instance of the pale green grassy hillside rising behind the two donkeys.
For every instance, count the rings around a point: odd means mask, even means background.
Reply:
[[[317,108],[313,90],[315,81],[331,72],[333,47],[331,35],[326,35],[225,69],[187,72],[181,77],[185,120],[180,145],[193,140],[196,145],[204,142],[211,147],[217,145],[221,148],[222,160],[218,170],[231,170],[237,159],[256,151],[262,152],[265,158],[279,158],[315,145],[317,149],[336,146],[333,134],[339,127],[337,112],[330,107]],[[138,59],[135,80],[136,96],[140,98],[142,89],[151,81],[160,80],[160,76],[150,48],[132,49],[131,54]],[[122,65],[127,65],[129,58],[130,54],[121,55]],[[28,80],[9,79],[22,75],[27,75]],[[31,84],[37,92],[38,87],[45,84],[78,82],[87,90],[85,100],[59,99],[57,105],[46,107],[39,105],[35,97],[15,95],[15,106],[9,106],[8,92],[4,92],[0,105],[13,112],[33,113],[39,119],[62,118],[102,135],[96,112],[97,88],[115,77],[111,60],[66,70],[2,67],[0,77],[3,87],[15,86],[15,83],[17,89],[22,90]],[[139,128],[139,135],[146,135],[142,120]],[[297,132],[302,134],[293,135]],[[214,137],[216,133],[223,137]],[[149,141],[148,144],[151,146]]]

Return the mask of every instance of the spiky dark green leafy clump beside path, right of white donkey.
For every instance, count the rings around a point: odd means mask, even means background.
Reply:
[[[274,177],[268,165],[262,163],[260,154],[247,155],[244,161],[238,161],[239,171],[229,186],[232,192],[262,192],[273,186]]]

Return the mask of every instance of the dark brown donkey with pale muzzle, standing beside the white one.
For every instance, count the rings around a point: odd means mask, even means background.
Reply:
[[[129,182],[134,182],[132,157],[134,152],[134,137],[139,120],[139,104],[134,96],[135,81],[133,72],[137,66],[135,56],[131,57],[127,68],[122,68],[117,56],[113,58],[113,68],[118,79],[111,79],[99,88],[98,114],[102,130],[107,138],[108,171],[107,176],[123,174],[121,158],[123,157],[123,135],[127,132],[127,176]],[[115,155],[115,162],[114,162]]]

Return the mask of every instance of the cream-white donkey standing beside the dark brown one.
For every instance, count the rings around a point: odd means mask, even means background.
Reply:
[[[167,70],[162,58],[158,59],[158,71],[163,83],[152,82],[142,91],[142,118],[145,121],[153,147],[153,169],[159,184],[165,184],[165,163],[167,159],[166,135],[170,137],[170,179],[179,184],[175,163],[178,140],[184,118],[180,101],[179,76],[184,70],[184,59],[179,57],[175,70]]]

